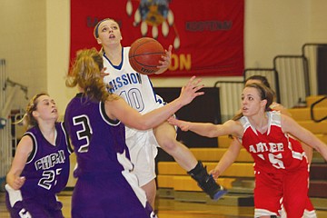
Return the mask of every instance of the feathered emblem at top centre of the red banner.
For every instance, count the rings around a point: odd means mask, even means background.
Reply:
[[[142,36],[148,35],[149,26],[152,26],[152,36],[157,39],[159,26],[161,25],[161,34],[166,37],[169,31],[173,29],[174,37],[173,48],[180,47],[180,38],[177,28],[173,26],[173,11],[169,8],[169,0],[141,0],[140,5],[134,11],[131,0],[127,1],[126,13],[134,15],[134,26],[139,26]]]

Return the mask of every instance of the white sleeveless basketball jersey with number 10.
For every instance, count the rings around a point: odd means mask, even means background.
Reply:
[[[148,113],[163,104],[162,99],[154,93],[149,77],[134,71],[128,59],[130,47],[122,51],[122,63],[113,65],[104,54],[106,73],[104,83],[109,84],[109,92],[118,94],[141,114]]]

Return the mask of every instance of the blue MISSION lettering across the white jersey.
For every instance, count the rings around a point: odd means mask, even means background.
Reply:
[[[117,89],[128,84],[142,84],[141,75],[138,73],[122,74],[108,83],[109,92],[114,93]]]

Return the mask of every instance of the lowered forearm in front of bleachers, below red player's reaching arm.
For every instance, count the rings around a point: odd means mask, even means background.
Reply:
[[[227,151],[223,154],[222,159],[218,162],[216,167],[210,172],[213,174],[213,178],[217,179],[228,167],[235,162],[238,154],[240,154],[242,144],[236,138],[233,138],[232,143],[228,147]]]

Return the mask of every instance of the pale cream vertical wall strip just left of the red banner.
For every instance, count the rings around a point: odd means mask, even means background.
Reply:
[[[75,94],[74,88],[66,88],[64,84],[70,50],[69,0],[46,1],[46,33],[48,93],[63,114],[66,104]]]

